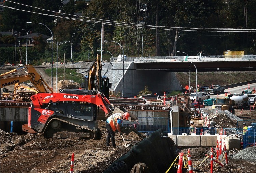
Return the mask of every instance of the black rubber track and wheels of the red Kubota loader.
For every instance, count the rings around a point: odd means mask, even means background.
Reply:
[[[98,130],[91,129],[70,123],[68,121],[52,118],[46,125],[43,136],[45,138],[84,138],[84,139],[100,139],[101,133]]]

